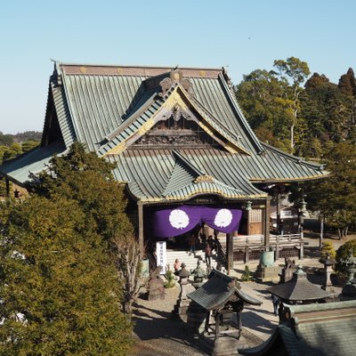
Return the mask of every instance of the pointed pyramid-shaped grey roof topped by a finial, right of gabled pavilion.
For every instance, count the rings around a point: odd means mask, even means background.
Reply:
[[[287,283],[269,287],[267,290],[272,295],[277,295],[280,299],[289,302],[318,300],[330,296],[330,293],[321,289],[320,286],[312,284],[300,266]]]

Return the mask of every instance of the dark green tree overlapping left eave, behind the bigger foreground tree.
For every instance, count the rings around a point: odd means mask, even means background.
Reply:
[[[54,157],[48,172],[39,174],[28,190],[45,198],[76,200],[89,225],[109,241],[133,233],[125,214],[124,188],[111,173],[114,167],[95,153],[85,152],[84,145],[77,142],[68,155]]]

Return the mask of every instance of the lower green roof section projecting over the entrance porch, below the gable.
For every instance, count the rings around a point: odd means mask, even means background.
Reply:
[[[243,176],[216,165],[214,156],[206,156],[205,164],[198,160],[199,150],[190,151],[197,154],[195,161],[182,150],[125,150],[107,157],[117,163],[116,180],[128,182],[130,193],[142,201],[185,200],[206,193],[224,198],[267,196]]]

